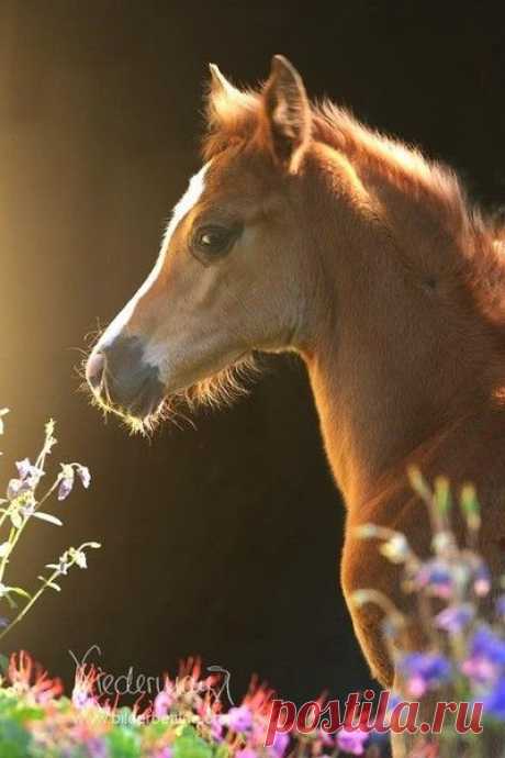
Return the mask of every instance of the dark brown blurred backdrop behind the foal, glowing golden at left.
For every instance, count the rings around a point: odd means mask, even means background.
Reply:
[[[496,7],[498,3],[496,3]],[[485,13],[481,8],[485,7]],[[1,475],[44,421],[89,493],[37,524],[12,566],[30,586],[68,544],[90,568],[2,646],[71,679],[72,660],[155,676],[200,654],[296,701],[368,683],[338,589],[343,506],[304,369],[269,359],[249,399],[197,430],[128,437],[78,393],[75,348],[137,289],[199,167],[207,62],[237,82],[289,56],[313,96],[422,145],[497,208],[505,193],[504,34],[493,5],[334,2],[0,2]],[[308,9],[307,9],[308,8]],[[9,578],[9,577],[8,577]]]

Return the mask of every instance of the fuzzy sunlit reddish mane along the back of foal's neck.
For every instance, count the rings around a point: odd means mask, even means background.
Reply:
[[[358,121],[325,100],[313,105],[313,136],[343,153],[361,171],[371,171],[429,209],[456,243],[459,274],[481,309],[505,323],[505,227],[472,203],[456,172]]]

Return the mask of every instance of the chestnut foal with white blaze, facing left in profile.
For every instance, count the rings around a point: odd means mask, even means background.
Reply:
[[[102,406],[149,427],[173,398],[227,397],[252,350],[305,361],[347,508],[346,598],[404,603],[392,567],[356,536],[367,522],[429,547],[409,464],[483,503],[494,571],[505,539],[505,234],[458,180],[325,102],[281,56],[242,91],[211,66],[204,166],[157,263],[94,346]],[[350,613],[371,671],[394,670],[373,605]],[[418,644],[416,629],[408,643]]]

